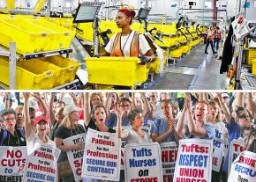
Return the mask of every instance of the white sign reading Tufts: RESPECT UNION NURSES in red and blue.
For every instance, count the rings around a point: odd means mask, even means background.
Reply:
[[[213,141],[184,139],[179,141],[174,182],[210,182]]]

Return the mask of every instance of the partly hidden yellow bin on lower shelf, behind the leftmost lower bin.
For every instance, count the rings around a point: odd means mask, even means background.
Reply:
[[[45,62],[50,62],[60,68],[63,68],[63,72],[61,73],[63,78],[63,84],[70,83],[75,79],[76,72],[78,71],[79,66],[81,65],[79,62],[74,62],[71,59],[65,58],[61,55],[44,57],[41,58],[41,60]]]

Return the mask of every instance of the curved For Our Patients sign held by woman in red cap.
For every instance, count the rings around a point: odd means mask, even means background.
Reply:
[[[26,159],[26,171],[23,182],[56,182],[56,161],[60,154],[59,149],[49,145],[41,145]]]

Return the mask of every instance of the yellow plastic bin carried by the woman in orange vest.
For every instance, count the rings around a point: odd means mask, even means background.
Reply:
[[[138,64],[138,57],[85,58],[90,84],[131,86],[147,80],[147,65]]]

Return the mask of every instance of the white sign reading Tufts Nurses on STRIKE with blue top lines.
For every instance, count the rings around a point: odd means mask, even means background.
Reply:
[[[126,182],[162,182],[161,149],[157,142],[128,144],[124,149]]]

